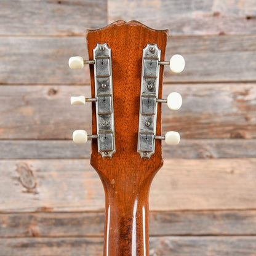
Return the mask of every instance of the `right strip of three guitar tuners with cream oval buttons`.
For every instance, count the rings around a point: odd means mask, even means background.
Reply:
[[[178,92],[172,92],[167,98],[158,98],[159,65],[169,65],[170,70],[180,73],[185,67],[185,60],[179,54],[172,56],[169,62],[160,61],[160,57],[161,50],[156,44],[148,44],[143,49],[137,147],[141,158],[150,158],[154,154],[155,140],[165,140],[167,145],[180,142],[178,132],[156,135],[158,103],[167,103],[170,110],[178,110],[182,106],[182,96]]]

